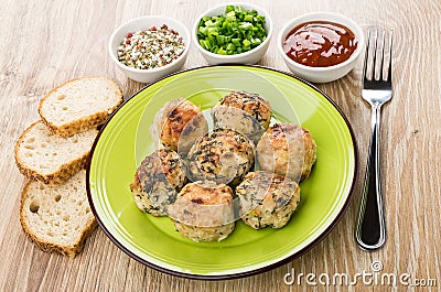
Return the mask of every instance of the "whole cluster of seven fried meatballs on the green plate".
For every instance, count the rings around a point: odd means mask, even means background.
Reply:
[[[194,241],[220,241],[237,220],[254,229],[287,225],[316,161],[314,139],[295,123],[270,125],[270,104],[258,94],[234,90],[209,113],[212,127],[183,98],[157,112],[150,134],[158,150],[130,184],[138,208],[169,216]]]

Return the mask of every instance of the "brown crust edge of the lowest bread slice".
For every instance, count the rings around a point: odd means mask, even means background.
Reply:
[[[62,246],[37,237],[28,225],[25,209],[24,209],[25,199],[28,197],[29,187],[31,186],[31,183],[33,182],[28,181],[21,193],[20,224],[23,228],[23,231],[26,234],[28,238],[41,250],[46,252],[57,252],[61,255],[68,256],[71,258],[75,258],[83,250],[83,247],[86,244],[86,239],[92,235],[92,232],[98,226],[97,220],[95,219],[95,217],[93,217],[93,219],[87,223],[85,228],[83,228],[82,235],[79,236],[78,240],[73,245]]]

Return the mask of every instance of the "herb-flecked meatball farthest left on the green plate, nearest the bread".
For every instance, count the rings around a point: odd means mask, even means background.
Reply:
[[[153,216],[165,216],[185,183],[181,156],[173,150],[161,149],[141,162],[130,190],[138,208]]]

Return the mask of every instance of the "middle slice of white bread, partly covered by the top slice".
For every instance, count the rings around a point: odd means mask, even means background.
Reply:
[[[97,134],[96,129],[90,129],[58,137],[42,121],[34,122],[17,141],[17,165],[31,180],[60,184],[86,165]]]

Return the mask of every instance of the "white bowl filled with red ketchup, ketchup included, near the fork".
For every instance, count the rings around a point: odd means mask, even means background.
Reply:
[[[329,83],[349,73],[365,46],[362,28],[333,12],[302,14],[280,31],[277,46],[289,69],[312,83]]]

